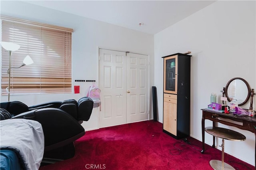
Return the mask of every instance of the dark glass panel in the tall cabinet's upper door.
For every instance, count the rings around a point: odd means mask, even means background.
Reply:
[[[176,58],[166,60],[166,91],[175,91]]]

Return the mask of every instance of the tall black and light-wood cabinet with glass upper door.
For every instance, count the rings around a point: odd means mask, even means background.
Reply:
[[[176,139],[190,135],[190,57],[164,58],[163,131]]]

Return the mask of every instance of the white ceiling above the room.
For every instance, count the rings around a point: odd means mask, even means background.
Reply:
[[[156,34],[216,1],[26,0],[24,2],[84,16],[86,18],[148,34]]]

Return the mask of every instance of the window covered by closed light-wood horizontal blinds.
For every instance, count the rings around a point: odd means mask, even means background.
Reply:
[[[5,16],[1,24],[2,41],[20,45],[11,67],[22,65],[26,55],[34,61],[11,69],[11,95],[72,93],[72,29]],[[2,48],[2,95],[7,95],[8,68],[9,53]]]

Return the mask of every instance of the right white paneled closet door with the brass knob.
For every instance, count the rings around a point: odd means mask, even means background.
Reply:
[[[148,55],[127,54],[127,123],[149,119]]]

